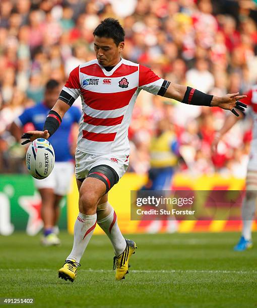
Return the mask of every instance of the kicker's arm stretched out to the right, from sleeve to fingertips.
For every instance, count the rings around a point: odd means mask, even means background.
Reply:
[[[238,100],[246,98],[246,95],[239,95],[239,93],[234,93],[218,97],[203,93],[190,87],[172,83],[170,83],[166,93],[164,94],[164,97],[175,99],[184,104],[220,107],[222,109],[230,110],[237,117],[239,114],[235,111],[234,108],[241,111],[244,111],[244,108],[247,108],[247,105],[238,102]]]

